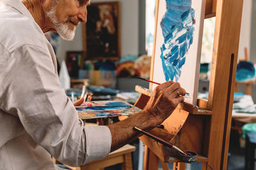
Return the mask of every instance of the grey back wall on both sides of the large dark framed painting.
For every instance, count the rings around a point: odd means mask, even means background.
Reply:
[[[111,1],[111,0],[105,0]],[[120,1],[120,27],[121,27],[121,56],[126,54],[138,55],[139,51],[139,1],[140,0],[118,0]],[[102,2],[102,0],[91,0],[91,3]],[[83,27],[79,25],[73,41],[60,40],[57,50],[58,60],[65,59],[67,51],[83,50]]]

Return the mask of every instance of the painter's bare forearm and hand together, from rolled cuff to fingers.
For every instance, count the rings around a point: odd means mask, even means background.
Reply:
[[[112,135],[111,151],[141,135],[134,127],[150,131],[168,118],[177,105],[184,101],[186,91],[179,83],[167,81],[156,87],[147,105],[138,114],[134,114],[116,124],[108,125]]]

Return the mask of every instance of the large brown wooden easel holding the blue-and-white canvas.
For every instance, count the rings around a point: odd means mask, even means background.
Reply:
[[[174,136],[172,143],[198,153],[202,169],[227,169],[243,0],[207,0],[205,7],[205,18],[216,16],[208,100],[198,99],[198,107],[180,104],[163,125]],[[135,106],[143,108],[150,93],[138,91],[141,96]],[[140,139],[146,145],[144,169],[158,169],[159,160],[164,170],[166,162],[175,162],[175,170],[185,169],[166,147],[147,136]]]

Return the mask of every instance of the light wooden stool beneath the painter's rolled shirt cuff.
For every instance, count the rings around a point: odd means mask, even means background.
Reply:
[[[109,153],[106,157],[99,160],[93,160],[80,167],[67,166],[72,170],[103,170],[104,167],[113,166],[115,164],[122,164],[122,170],[132,170],[132,155],[131,153],[136,150],[135,146],[125,145],[114,152]],[[55,159],[54,159],[55,160]],[[56,160],[55,160],[56,161]]]

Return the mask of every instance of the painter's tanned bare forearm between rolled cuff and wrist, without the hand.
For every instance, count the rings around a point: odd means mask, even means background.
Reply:
[[[131,143],[132,140],[138,138],[140,133],[134,131],[133,127],[139,127],[144,131],[150,131],[159,124],[154,115],[148,113],[148,111],[141,111],[129,118],[126,118],[122,122],[118,122],[113,125],[109,125],[109,129],[112,136],[111,152],[124,146],[127,143]]]

